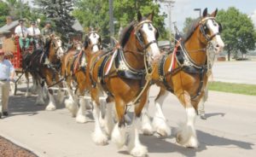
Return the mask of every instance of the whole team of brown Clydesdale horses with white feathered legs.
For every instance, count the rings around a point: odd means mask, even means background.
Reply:
[[[82,42],[75,42],[67,51],[56,35],[51,35],[45,49],[36,49],[29,56],[29,72],[37,84],[37,104],[44,104],[44,91],[49,96],[47,110],[55,110],[52,87],[57,86],[58,102],[64,103],[76,121],[84,123],[85,102],[90,97],[95,119],[93,141],[105,145],[111,139],[118,148],[127,143],[133,156],[145,156],[146,146],[140,142],[139,131],[162,137],[171,134],[162,111],[163,102],[172,92],[187,113],[185,124],[177,131],[177,142],[184,147],[197,148],[195,116],[204,96],[209,75],[210,55],[218,54],[224,43],[220,37],[221,25],[216,21],[216,9],[211,15],[207,9],[194,21],[185,37],[177,34],[172,52],[161,52],[154,26],[154,12],[147,17],[137,13],[120,34],[119,43],[112,50],[102,49],[102,38],[97,30],[90,29]],[[148,92],[152,84],[160,87],[155,98],[155,113],[148,117]],[[102,99],[102,97],[107,97]],[[103,100],[103,101],[102,101]],[[127,106],[134,109],[127,141],[126,126],[129,120]],[[127,142],[126,142],[127,141]]]

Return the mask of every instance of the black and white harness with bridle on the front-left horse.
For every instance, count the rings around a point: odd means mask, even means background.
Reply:
[[[133,104],[136,104],[137,102],[139,102],[139,99],[142,96],[143,91],[146,90],[146,87],[148,86],[148,84],[151,81],[151,76],[153,73],[152,68],[148,66],[148,55],[146,54],[146,49],[148,48],[148,46],[150,44],[157,43],[157,41],[153,40],[153,41],[149,42],[148,44],[144,44],[143,36],[142,36],[141,32],[139,31],[141,26],[143,26],[144,23],[152,23],[152,21],[151,20],[143,20],[142,22],[138,23],[137,26],[135,26],[134,34],[137,37],[137,41],[143,48],[143,50],[137,49],[137,53],[144,56],[145,68],[143,68],[141,70],[132,68],[125,59],[124,50],[122,48],[120,48],[120,49],[117,49],[118,50],[117,55],[113,56],[114,57],[114,59],[113,59],[114,70],[112,72],[108,73],[107,75],[104,74],[104,69],[112,56],[112,55],[105,55],[105,56],[103,56],[104,59],[102,61],[101,66],[99,67],[98,73],[97,73],[98,83],[102,84],[102,87],[105,91],[107,91],[108,96],[113,96],[113,94],[106,87],[105,78],[107,78],[107,77],[109,78],[109,77],[113,77],[113,76],[118,76],[119,78],[141,80],[141,83],[140,83],[141,90],[138,92],[137,97],[132,102]],[[94,62],[93,67],[95,67],[95,65],[96,65],[96,61]],[[90,73],[92,73],[92,69],[93,68],[91,68]],[[115,74],[115,75],[113,75],[113,74]]]

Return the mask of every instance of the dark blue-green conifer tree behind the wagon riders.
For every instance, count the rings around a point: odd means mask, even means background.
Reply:
[[[58,32],[67,42],[67,32],[75,32],[72,28],[74,17],[71,15],[73,0],[35,0],[34,3],[38,5],[38,13],[43,13],[47,20],[51,20],[55,26],[55,32]]]

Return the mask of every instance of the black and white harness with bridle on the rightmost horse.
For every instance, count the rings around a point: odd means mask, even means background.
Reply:
[[[214,38],[216,35],[219,34],[219,32],[214,33],[210,37],[206,34],[205,28],[204,28],[204,26],[206,24],[203,24],[203,22],[206,21],[206,20],[210,20],[210,19],[214,19],[214,18],[213,17],[208,17],[204,20],[201,20],[198,24],[198,26],[200,26],[200,31],[201,31],[202,35],[206,38],[208,43],[211,42],[212,38]],[[175,27],[175,28],[176,28],[176,32],[179,36],[179,32],[177,30],[177,27]],[[212,46],[211,44],[208,44],[206,49],[198,49],[196,51],[199,51],[199,50],[207,51],[207,49],[212,49],[211,46]],[[174,60],[177,61],[177,67],[174,67],[174,68],[170,67],[171,70],[169,70],[167,73],[165,73],[164,67],[165,67],[165,64],[166,64],[166,59],[169,56],[169,54],[163,55],[161,60],[160,60],[159,66],[158,66],[159,67],[158,73],[159,73],[159,76],[160,76],[160,81],[165,85],[166,90],[169,90],[173,93],[174,91],[173,91],[172,86],[170,86],[168,84],[168,82],[166,81],[166,78],[169,75],[173,76],[173,75],[177,74],[180,71],[188,73],[189,75],[199,75],[200,84],[199,84],[199,86],[196,90],[195,96],[191,96],[191,100],[195,101],[195,99],[198,96],[201,95],[204,75],[208,72],[208,70],[211,71],[211,67],[209,66],[209,61],[208,61],[209,59],[207,58],[207,61],[205,62],[204,65],[197,65],[195,63],[195,61],[190,57],[188,51],[185,49],[183,41],[177,42],[176,47],[177,47],[177,49],[173,49],[172,57],[174,57]],[[208,55],[208,52],[207,52],[207,55]]]

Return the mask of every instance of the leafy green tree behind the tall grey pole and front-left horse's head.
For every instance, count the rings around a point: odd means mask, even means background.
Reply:
[[[108,1],[106,0],[79,0],[76,3],[73,15],[79,19],[84,27],[94,26],[102,29],[102,36],[109,34]],[[167,38],[164,27],[166,14],[160,15],[160,6],[152,0],[115,0],[113,1],[113,16],[115,19],[115,34],[118,34],[119,27],[126,26],[132,20],[136,20],[137,11],[148,15],[154,10],[154,26],[159,31],[161,38]]]

